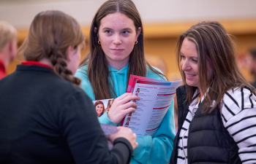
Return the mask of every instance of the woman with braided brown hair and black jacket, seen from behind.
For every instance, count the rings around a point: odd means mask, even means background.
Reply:
[[[84,36],[60,11],[39,12],[20,47],[26,61],[0,81],[0,163],[129,163],[129,128],[108,136],[73,77]]]

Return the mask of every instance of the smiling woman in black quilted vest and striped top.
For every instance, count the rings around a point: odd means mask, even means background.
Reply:
[[[178,37],[184,85],[170,163],[256,163],[256,96],[236,64],[230,35],[201,22]]]

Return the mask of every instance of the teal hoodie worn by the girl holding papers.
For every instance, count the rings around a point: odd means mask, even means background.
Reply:
[[[128,66],[124,66],[123,69],[117,70],[109,66],[110,76],[113,77],[114,89],[117,96],[126,93],[127,87],[127,71]],[[160,71],[157,68],[154,68]],[[75,77],[79,77],[83,90],[89,95],[91,100],[95,100],[94,92],[91,87],[91,83],[87,77],[87,66],[80,67],[75,73]],[[162,79],[159,75],[155,74],[154,71],[147,69],[146,77],[152,79]],[[112,83],[113,85],[113,83]],[[105,112],[99,117],[99,122],[109,125],[116,125],[108,119],[108,114]],[[119,125],[119,124],[118,124]],[[173,152],[173,140],[175,137],[175,125],[174,125],[174,114],[173,114],[173,102],[170,105],[164,119],[162,120],[157,133],[154,136],[143,136],[137,138],[138,147],[133,151],[131,163],[158,163],[166,164],[169,163],[170,155]]]

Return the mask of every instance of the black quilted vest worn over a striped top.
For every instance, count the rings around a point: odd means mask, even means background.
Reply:
[[[178,132],[173,144],[170,163],[177,163],[178,137],[181,127],[189,112],[189,104],[184,103],[187,92],[183,85],[176,90],[178,101]],[[238,157],[238,147],[232,136],[225,129],[219,108],[210,114],[202,114],[203,103],[195,112],[195,117],[189,125],[187,144],[188,163],[241,163]]]

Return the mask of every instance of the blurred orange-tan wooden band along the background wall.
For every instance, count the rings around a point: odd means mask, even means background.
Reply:
[[[199,22],[199,21],[198,21]],[[230,34],[236,38],[238,57],[246,55],[250,47],[256,47],[256,20],[227,20],[220,21]],[[176,65],[175,48],[178,36],[186,31],[190,26],[197,22],[191,23],[166,23],[151,24],[144,26],[145,36],[145,53],[146,58],[155,56],[165,63],[168,78],[179,74]],[[86,49],[82,52],[82,58],[89,52],[89,27],[83,27],[83,33],[86,36]],[[28,29],[19,30],[19,44],[23,42],[28,34]],[[18,57],[7,68],[7,73],[15,71],[15,67],[23,58]],[[150,61],[149,61],[150,62]],[[252,80],[252,76],[246,68],[242,69],[246,79]]]

